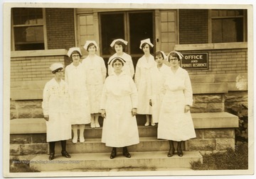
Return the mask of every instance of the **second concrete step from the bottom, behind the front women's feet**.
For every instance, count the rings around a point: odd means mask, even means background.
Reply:
[[[70,154],[104,153],[112,150],[111,147],[105,146],[101,139],[85,139],[85,142],[76,144],[68,140],[66,149]],[[129,151],[167,151],[169,150],[169,142],[156,139],[156,137],[139,137],[139,144],[128,146],[128,149]],[[60,153],[60,151],[60,144],[56,143],[55,152]],[[122,151],[122,148],[117,149],[117,151]]]

